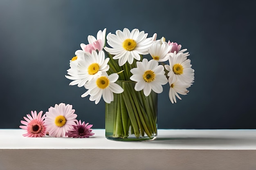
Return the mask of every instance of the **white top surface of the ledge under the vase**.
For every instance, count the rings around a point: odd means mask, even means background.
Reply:
[[[0,129],[0,149],[196,149],[256,150],[256,130],[158,130],[155,141],[121,142],[94,129],[90,138],[23,137],[22,129]]]

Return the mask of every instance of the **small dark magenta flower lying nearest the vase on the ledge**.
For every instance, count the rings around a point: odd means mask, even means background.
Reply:
[[[81,120],[76,122],[76,125],[73,125],[73,129],[66,132],[66,136],[68,137],[77,137],[77,138],[85,138],[94,135],[91,129],[92,125],[89,123],[85,124],[81,123]]]

